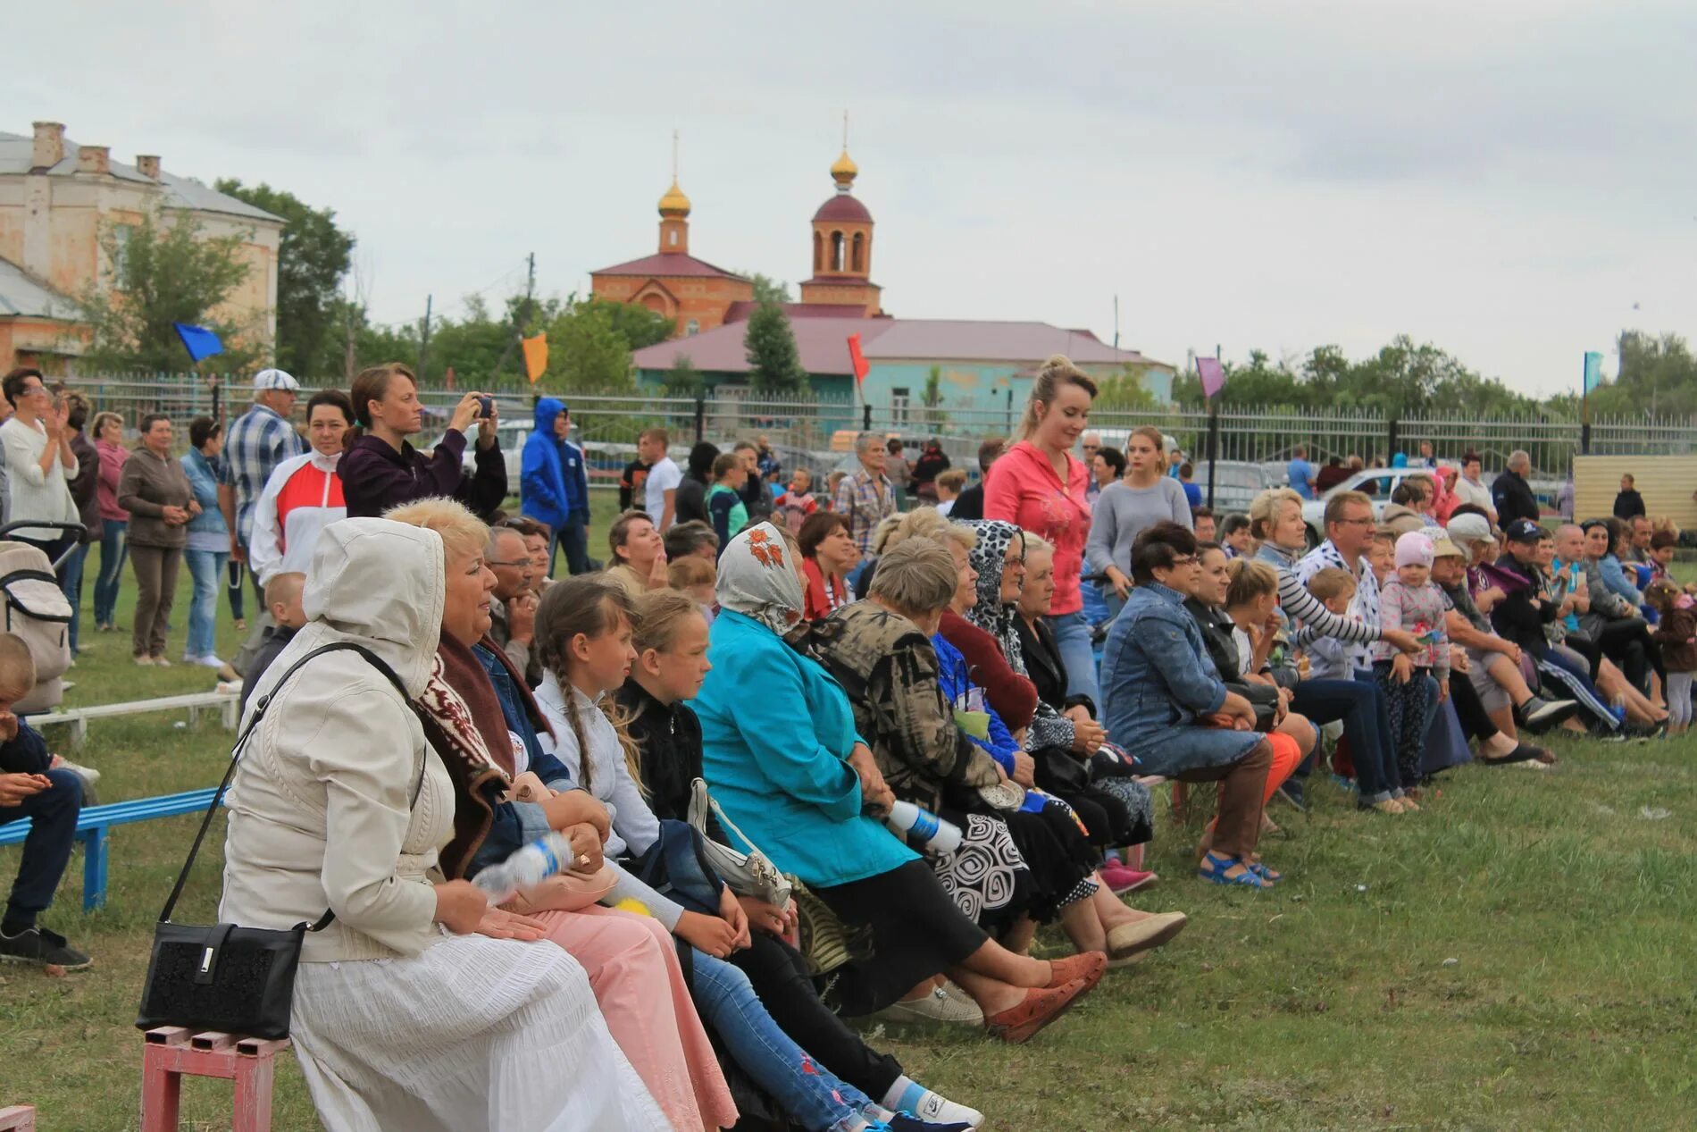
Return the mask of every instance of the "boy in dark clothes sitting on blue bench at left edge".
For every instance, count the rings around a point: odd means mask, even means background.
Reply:
[[[36,923],[53,903],[76,840],[76,815],[83,808],[83,782],[68,769],[53,767],[41,735],[12,715],[12,704],[36,687],[36,662],[29,645],[0,633],[0,825],[31,818],[12,896],[0,916],[0,962],[53,964],[68,971],[87,967],[88,955],[63,935]]]

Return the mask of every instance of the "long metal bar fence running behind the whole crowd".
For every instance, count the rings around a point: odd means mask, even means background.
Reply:
[[[68,384],[81,390],[95,409],[115,411],[131,426],[146,412],[166,412],[180,423],[199,414],[216,414],[216,409],[236,414],[251,395],[241,378],[183,373],[78,377]],[[1013,434],[1020,414],[1020,406],[1013,404],[993,409],[927,409],[828,397],[774,399],[725,387],[704,397],[548,392],[570,404],[575,434],[594,448],[597,463],[611,463],[619,455],[635,451],[641,429],[664,426],[672,433],[674,445],[686,446],[701,440],[725,446],[735,440],[765,436],[781,451],[815,453],[815,465],[832,451],[847,451],[852,433],[860,429],[898,434],[910,443],[935,436],[955,463],[971,468],[979,441]],[[448,419],[462,395],[463,392],[446,389],[421,390],[436,424]],[[509,428],[529,428],[529,397],[497,394],[496,399]],[[304,397],[295,411],[304,414]],[[1431,441],[1439,458],[1459,460],[1463,453],[1476,451],[1492,472],[1507,463],[1510,451],[1526,450],[1532,457],[1536,477],[1563,479],[1575,455],[1697,451],[1697,417],[1599,417],[1582,424],[1556,416],[1480,419],[1466,411],[1392,419],[1346,409],[1235,406],[1218,411],[1215,417],[1218,458],[1246,463],[1283,463],[1298,445],[1307,446],[1313,463],[1325,463],[1330,457],[1388,462],[1397,451],[1414,455],[1420,441]],[[1130,429],[1152,424],[1198,460],[1208,450],[1210,416],[1201,409],[1098,409],[1089,423],[1105,443],[1117,446],[1123,446]]]

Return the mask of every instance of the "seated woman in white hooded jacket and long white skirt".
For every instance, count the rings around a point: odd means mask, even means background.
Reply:
[[[453,784],[407,699],[445,625],[487,602],[480,558],[384,519],[326,528],[302,628],[261,677],[273,692],[229,793],[219,918],[305,937],[290,1035],[331,1132],[664,1129],[613,1044],[582,967],[540,925],[490,910],[436,867]],[[350,650],[363,645],[404,692]],[[492,939],[494,937],[494,939]]]

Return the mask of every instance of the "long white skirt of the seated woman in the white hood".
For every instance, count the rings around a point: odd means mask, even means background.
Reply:
[[[669,1130],[584,969],[548,942],[304,962],[290,1037],[329,1132]]]

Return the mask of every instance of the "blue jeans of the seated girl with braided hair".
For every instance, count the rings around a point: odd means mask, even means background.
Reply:
[[[835,1132],[872,1103],[777,1028],[747,974],[701,950],[691,950],[689,957],[689,993],[701,1018],[720,1035],[743,1073],[770,1093],[791,1120],[808,1132]]]

